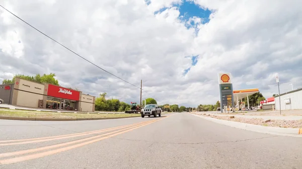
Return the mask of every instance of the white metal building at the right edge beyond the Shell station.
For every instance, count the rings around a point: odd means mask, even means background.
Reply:
[[[302,109],[302,88],[280,94],[281,110]],[[279,96],[275,96],[276,110],[280,110]]]

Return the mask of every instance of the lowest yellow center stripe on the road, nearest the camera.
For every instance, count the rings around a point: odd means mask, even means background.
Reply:
[[[164,118],[162,118],[162,119],[164,119]],[[113,137],[115,135],[119,135],[119,134],[122,134],[122,133],[125,133],[125,132],[132,131],[136,128],[154,123],[156,121],[160,121],[162,119],[156,119],[156,120],[153,120],[153,121],[148,121],[146,123],[139,124],[137,126],[129,127],[129,128],[126,128],[126,129],[115,131],[115,132],[111,132],[113,134],[106,133],[106,135],[107,134],[110,134],[110,135],[107,135],[107,136],[104,136],[104,137],[101,137],[101,138],[97,138],[97,139],[93,139],[93,140],[90,140],[90,141],[86,141],[86,142],[82,142],[82,143],[78,143],[78,144],[74,144],[74,145],[70,145],[70,146],[66,146],[66,147],[62,147],[62,148],[58,148],[58,149],[53,149],[53,150],[49,150],[49,151],[45,151],[45,152],[40,152],[40,153],[35,153],[35,154],[30,154],[30,155],[24,155],[24,156],[15,157],[15,158],[3,159],[3,160],[0,160],[0,164],[9,164],[9,163],[21,162],[21,161],[25,161],[25,160],[44,157],[44,156],[47,156],[47,155],[52,155],[52,154],[59,153],[59,152],[62,152],[62,151],[67,151],[69,149],[81,147],[81,146],[91,144],[91,143],[94,143],[94,142],[97,142],[97,141],[100,141],[100,140],[103,140],[103,139],[106,139],[106,138]],[[105,135],[105,134],[103,134],[103,135]]]

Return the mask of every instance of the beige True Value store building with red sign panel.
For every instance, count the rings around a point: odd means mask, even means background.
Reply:
[[[24,107],[93,112],[95,97],[52,84],[40,84],[16,78],[14,84],[0,85],[0,97],[6,104]]]

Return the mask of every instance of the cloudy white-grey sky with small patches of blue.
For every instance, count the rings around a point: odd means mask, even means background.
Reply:
[[[219,100],[218,73],[234,90],[267,98],[302,87],[300,1],[0,0],[69,49],[140,86],[142,99],[196,106]],[[100,70],[0,8],[0,83],[55,73],[63,87],[126,103],[140,89]]]

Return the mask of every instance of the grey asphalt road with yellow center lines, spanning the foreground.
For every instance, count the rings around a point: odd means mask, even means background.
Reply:
[[[302,168],[300,137],[241,130],[188,113],[163,116],[0,120],[0,168]]]

